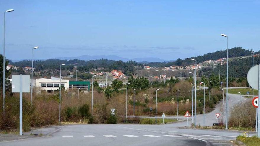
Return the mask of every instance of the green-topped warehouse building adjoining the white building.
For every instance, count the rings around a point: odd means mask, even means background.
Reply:
[[[69,91],[85,91],[90,90],[90,81],[69,81]]]

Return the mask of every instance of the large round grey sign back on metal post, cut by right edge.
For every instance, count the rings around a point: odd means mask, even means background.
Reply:
[[[259,65],[255,65],[253,67],[250,68],[250,70],[247,73],[247,81],[248,84],[260,91],[260,64]],[[260,92],[258,92],[258,101],[259,101],[259,96],[260,96]],[[254,102],[254,101],[253,101]],[[257,132],[257,137],[260,137],[260,108],[257,108],[257,112],[256,112],[256,132]]]

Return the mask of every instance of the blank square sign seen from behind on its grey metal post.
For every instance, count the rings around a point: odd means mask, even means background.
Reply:
[[[30,75],[12,75],[12,92],[20,93],[20,135],[22,135],[22,93],[30,92]]]

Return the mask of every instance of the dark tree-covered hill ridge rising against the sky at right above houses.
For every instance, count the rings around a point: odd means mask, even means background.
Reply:
[[[259,53],[259,51],[256,53]],[[242,47],[234,47],[232,49],[228,49],[229,58],[247,56],[247,55],[251,55],[251,50],[246,50],[246,49],[243,49]],[[171,65],[185,66],[185,65],[194,64],[194,61],[192,61],[191,58],[194,58],[195,60],[197,60],[197,63],[202,63],[203,61],[206,61],[206,60],[217,60],[219,58],[227,58],[227,50],[220,50],[220,51],[204,54],[203,56],[199,55],[196,57],[185,58],[183,60],[178,58],[174,62],[148,63],[147,65],[148,66],[157,66],[157,67],[171,66]]]

